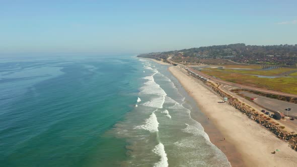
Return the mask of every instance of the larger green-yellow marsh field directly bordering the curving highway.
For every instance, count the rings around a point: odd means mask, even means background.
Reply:
[[[280,68],[282,69],[282,68]],[[283,68],[286,69],[286,68]],[[273,69],[272,69],[273,70]],[[238,71],[238,70],[236,70]],[[269,71],[269,70],[265,70]],[[273,70],[274,72],[270,73],[279,73]],[[273,91],[279,91],[279,92],[285,92],[290,94],[297,94],[297,78],[296,77],[276,77],[276,78],[263,78],[263,77],[257,77],[253,75],[247,75],[244,73],[235,73],[231,71],[226,70],[202,70],[201,72],[204,72],[208,75],[215,76],[217,78],[234,82],[237,84],[242,84],[246,86],[252,86],[257,88],[264,88],[268,90]],[[251,74],[251,73],[249,73]],[[259,74],[259,73],[257,73]],[[263,74],[263,73],[261,73]],[[266,75],[267,73],[265,73]]]

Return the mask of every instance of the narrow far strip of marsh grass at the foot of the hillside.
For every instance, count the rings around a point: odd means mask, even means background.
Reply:
[[[260,70],[260,69],[242,70],[242,69],[226,69],[226,68],[225,69],[205,68],[205,69],[217,71],[217,72],[242,73],[242,74],[252,74],[252,75],[266,75],[266,76],[274,76],[285,72],[297,70],[296,68],[275,68],[275,69],[269,69],[269,70]]]

